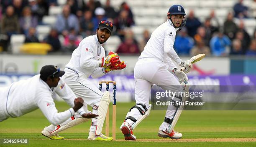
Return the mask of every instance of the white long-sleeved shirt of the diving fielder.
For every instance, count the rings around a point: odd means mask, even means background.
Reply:
[[[28,112],[40,108],[44,116],[53,125],[59,125],[74,115],[73,108],[64,112],[58,112],[55,107],[53,96],[57,94],[63,98],[71,107],[74,107],[74,92],[60,80],[58,86],[50,88],[46,82],[35,75],[27,80],[14,82],[8,88],[6,98],[6,111],[10,117],[19,117]],[[82,115],[84,110],[80,108],[77,112]]]

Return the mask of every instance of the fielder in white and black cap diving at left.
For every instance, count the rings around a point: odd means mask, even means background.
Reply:
[[[44,116],[54,125],[58,125],[72,117],[75,112],[84,119],[96,117],[87,114],[81,107],[83,100],[76,98],[72,90],[61,80],[64,71],[54,65],[42,67],[40,75],[35,75],[28,80],[20,80],[9,87],[0,88],[0,122],[9,117],[19,117],[26,113],[40,109]],[[58,112],[53,97],[59,95],[69,106],[68,110]],[[81,116],[80,116],[81,117]],[[47,137],[49,132],[44,132]],[[59,135],[51,135],[52,139],[58,139]],[[61,139],[61,138],[60,138]]]

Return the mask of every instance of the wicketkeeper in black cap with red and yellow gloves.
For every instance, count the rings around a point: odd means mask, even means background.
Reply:
[[[94,114],[99,115],[97,118],[92,118],[88,140],[113,140],[112,137],[107,137],[101,133],[110,102],[109,92],[105,92],[103,95],[98,87],[88,80],[90,76],[92,78],[102,77],[111,70],[121,70],[126,67],[114,52],[110,52],[105,57],[105,50],[102,44],[108,40],[112,31],[113,24],[111,22],[101,21],[96,34],[84,38],[79,43],[64,70],[63,80],[75,95],[82,97],[84,102],[92,106]],[[84,105],[83,108],[87,110],[87,105]],[[64,122],[64,124],[60,124],[60,128],[52,130],[53,135],[59,132],[62,126],[66,124],[67,122]]]

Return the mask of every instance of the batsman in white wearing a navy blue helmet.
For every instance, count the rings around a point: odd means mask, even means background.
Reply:
[[[154,30],[143,52],[138,57],[134,67],[136,106],[131,107],[125,121],[120,126],[125,140],[136,140],[132,130],[149,115],[151,110],[149,100],[153,84],[164,90],[178,90],[178,92],[184,91],[184,87],[188,88],[188,78],[185,73],[190,71],[191,63],[189,60],[182,61],[173,48],[176,32],[186,23],[185,15],[184,8],[181,5],[170,7],[167,21]],[[172,61],[181,67],[185,67],[185,73],[177,70]],[[178,96],[172,99],[172,101],[181,100],[182,97]],[[172,105],[168,107],[163,119],[164,122],[159,127],[159,137],[172,139],[182,137],[181,133],[170,130],[177,109]]]

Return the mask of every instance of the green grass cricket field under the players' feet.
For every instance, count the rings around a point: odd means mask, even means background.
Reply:
[[[165,111],[151,111],[135,130],[137,139],[143,141],[120,141],[123,134],[120,132],[126,113],[134,105],[131,103],[117,103],[116,138],[118,141],[102,142],[88,141],[90,122],[86,122],[60,133],[66,140],[50,140],[40,134],[45,126],[50,125],[40,110],[28,113],[22,117],[9,118],[0,122],[0,139],[27,138],[28,145],[0,146],[53,146],[53,147],[159,147],[172,145],[175,147],[256,147],[256,142],[148,142],[150,139],[161,139],[157,136],[159,125],[164,120]],[[69,107],[65,102],[56,102],[59,111]],[[112,124],[112,106],[110,106],[110,124]],[[90,109],[90,108],[89,108]],[[112,127],[110,126],[110,136]],[[183,134],[182,139],[193,138],[256,138],[256,111],[184,111],[175,127]],[[105,128],[103,128],[103,133]],[[163,139],[168,141],[169,139]],[[153,140],[152,140],[153,141]],[[161,141],[161,140],[160,140]],[[171,141],[171,140],[170,140]]]

